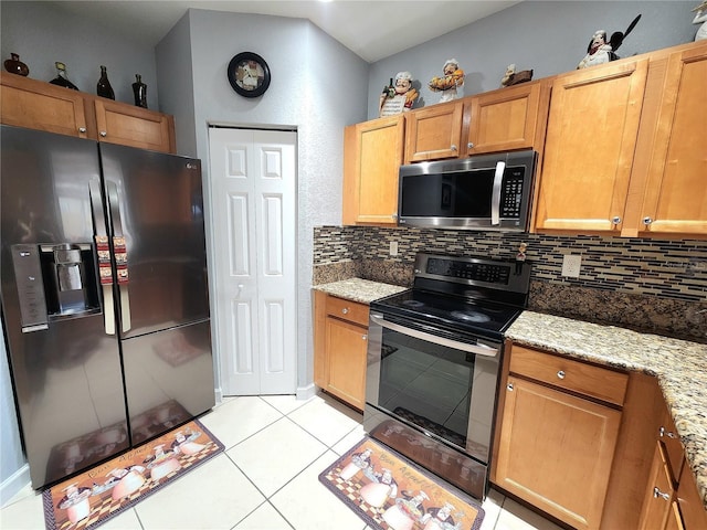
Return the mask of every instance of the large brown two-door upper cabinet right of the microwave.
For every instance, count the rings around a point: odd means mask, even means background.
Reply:
[[[535,231],[707,235],[707,42],[557,76]]]

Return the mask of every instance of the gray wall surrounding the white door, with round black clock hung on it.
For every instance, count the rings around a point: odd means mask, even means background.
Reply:
[[[297,388],[304,393],[313,384],[313,229],[340,223],[344,126],[366,118],[368,65],[303,19],[203,10],[190,10],[184,19],[157,46],[160,80],[170,72],[169,82],[160,81],[160,102],[175,115],[183,152],[208,160],[208,125],[214,123],[297,130]],[[257,53],[270,66],[272,82],[262,97],[244,98],[229,84],[229,62],[243,51]],[[187,65],[171,68],[189,56],[191,72]],[[336,65],[336,74],[328,75],[326,65]],[[193,100],[187,102],[183,92],[190,88]],[[209,168],[202,167],[208,198]],[[207,210],[211,234],[208,199]],[[210,248],[213,244],[210,240]],[[215,288],[212,283],[212,299]]]

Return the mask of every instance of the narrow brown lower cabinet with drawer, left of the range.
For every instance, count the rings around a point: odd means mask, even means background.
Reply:
[[[362,411],[368,306],[315,290],[314,318],[315,384]]]

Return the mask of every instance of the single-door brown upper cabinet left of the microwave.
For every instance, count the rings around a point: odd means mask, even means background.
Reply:
[[[398,224],[403,115],[344,130],[344,224]]]

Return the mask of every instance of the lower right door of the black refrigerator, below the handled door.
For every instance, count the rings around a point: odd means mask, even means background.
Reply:
[[[209,320],[124,340],[123,360],[134,445],[215,404]]]

